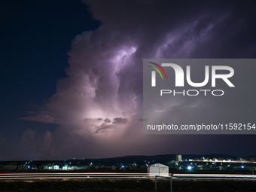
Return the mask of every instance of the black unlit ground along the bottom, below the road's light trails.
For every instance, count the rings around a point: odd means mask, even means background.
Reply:
[[[153,178],[83,178],[83,179],[26,179],[0,180],[0,192],[11,191],[154,191]],[[158,179],[157,191],[170,191],[169,180]],[[256,191],[256,181],[252,180],[200,180],[173,179],[172,191]]]

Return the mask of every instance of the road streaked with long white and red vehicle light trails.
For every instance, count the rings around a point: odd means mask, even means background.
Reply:
[[[171,175],[169,175],[171,176]],[[31,178],[152,178],[147,173],[128,172],[23,172],[0,173],[0,180],[6,179],[31,179]],[[197,179],[254,179],[254,175],[228,175],[228,174],[173,174],[172,178],[197,178]]]

